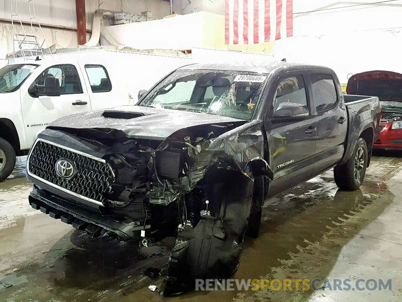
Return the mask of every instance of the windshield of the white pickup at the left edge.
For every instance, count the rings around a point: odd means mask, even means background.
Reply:
[[[0,69],[0,93],[16,91],[28,78],[37,64],[13,64]]]

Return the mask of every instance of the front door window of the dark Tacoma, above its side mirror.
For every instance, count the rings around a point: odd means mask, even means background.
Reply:
[[[307,105],[306,87],[304,85],[304,79],[301,74],[293,75],[286,79],[283,79],[275,92],[273,107],[276,111],[280,103],[298,103],[301,105]]]

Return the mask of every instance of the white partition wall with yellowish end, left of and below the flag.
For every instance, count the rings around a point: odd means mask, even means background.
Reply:
[[[195,47],[272,54],[272,43],[225,45],[225,18],[201,11],[143,23],[107,27],[121,44],[139,49],[188,50]]]

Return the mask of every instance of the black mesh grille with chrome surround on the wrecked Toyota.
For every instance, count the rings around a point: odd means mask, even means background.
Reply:
[[[55,164],[60,158],[70,159],[76,164],[76,175],[71,180],[57,176]],[[51,186],[74,192],[87,201],[101,205],[105,201],[103,193],[110,190],[115,176],[103,159],[95,158],[38,139],[29,155],[27,170],[29,175],[45,180]]]

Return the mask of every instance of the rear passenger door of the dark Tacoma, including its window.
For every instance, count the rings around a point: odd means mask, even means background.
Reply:
[[[310,72],[313,109],[317,116],[314,175],[331,168],[343,157],[347,112],[335,79],[335,74],[328,70]]]

